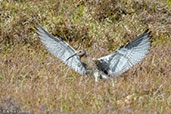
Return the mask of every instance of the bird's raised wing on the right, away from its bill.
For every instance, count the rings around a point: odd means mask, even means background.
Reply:
[[[109,75],[117,76],[141,62],[150,48],[150,33],[146,30],[126,46],[120,47],[108,56],[99,58],[98,68]]]

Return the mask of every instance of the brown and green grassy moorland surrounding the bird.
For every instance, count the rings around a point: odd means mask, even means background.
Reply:
[[[75,49],[101,57],[147,28],[147,57],[111,81],[81,76],[40,42],[36,21]],[[169,0],[1,0],[0,113],[171,113]]]

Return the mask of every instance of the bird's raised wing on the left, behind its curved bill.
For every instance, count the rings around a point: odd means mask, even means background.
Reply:
[[[37,24],[37,33],[39,34],[42,43],[51,54],[62,60],[76,72],[82,75],[86,74],[86,70],[81,63],[79,56],[73,56],[68,59],[76,53],[76,51],[68,43],[49,34],[39,24]]]

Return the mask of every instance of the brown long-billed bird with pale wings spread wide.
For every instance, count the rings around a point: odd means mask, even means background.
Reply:
[[[115,52],[100,58],[91,58],[84,49],[75,50],[64,40],[47,32],[39,23],[37,34],[46,49],[64,64],[83,76],[94,76],[111,80],[134,65],[140,63],[149,53],[151,47],[151,31],[145,30],[127,45],[119,47]]]

